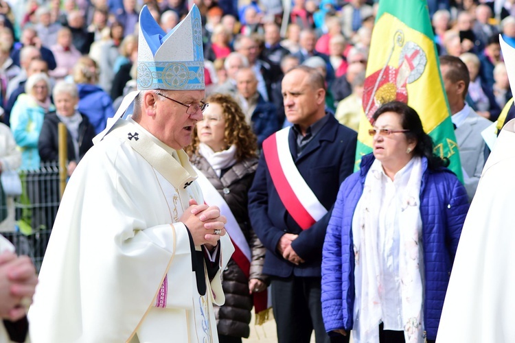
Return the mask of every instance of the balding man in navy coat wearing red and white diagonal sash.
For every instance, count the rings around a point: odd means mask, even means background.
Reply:
[[[325,113],[325,83],[306,66],[282,80],[286,119],[293,126],[263,143],[249,193],[251,223],[264,246],[264,274],[272,276],[279,342],[348,342],[330,338],[321,311],[325,230],[339,186],[352,174],[357,134]]]

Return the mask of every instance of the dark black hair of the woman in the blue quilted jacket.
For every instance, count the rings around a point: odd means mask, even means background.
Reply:
[[[433,152],[433,139],[424,132],[422,121],[417,113],[410,106],[404,102],[387,102],[376,110],[372,119],[376,121],[380,115],[387,112],[397,113],[400,116],[400,124],[402,129],[409,130],[404,132],[406,139],[409,141],[414,140],[417,142],[413,153],[415,156],[425,156],[429,169],[438,169],[440,167],[447,167],[449,165],[448,158],[441,158],[436,156]]]

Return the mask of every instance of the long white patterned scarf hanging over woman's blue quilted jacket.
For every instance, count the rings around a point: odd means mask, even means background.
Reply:
[[[374,168],[376,164],[376,168]],[[382,304],[379,289],[383,279],[382,264],[378,252],[379,213],[382,199],[382,168],[374,161],[365,178],[363,194],[358,201],[352,221],[354,240],[354,342],[379,342],[379,324],[382,322]],[[378,166],[378,165],[379,166]],[[425,340],[422,311],[423,285],[419,263],[420,254],[418,225],[420,220],[420,183],[422,160],[413,157],[413,167],[404,193],[401,195],[399,215],[402,323],[407,343],[422,343]]]

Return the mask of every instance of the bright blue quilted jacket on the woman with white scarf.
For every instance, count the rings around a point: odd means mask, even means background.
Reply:
[[[352,216],[363,193],[374,156],[363,156],[361,170],[341,184],[323,244],[322,314],[325,330],[350,331],[354,310],[354,249]],[[435,340],[450,270],[468,211],[465,188],[452,171],[427,169],[422,158],[420,215],[424,249],[424,327]]]

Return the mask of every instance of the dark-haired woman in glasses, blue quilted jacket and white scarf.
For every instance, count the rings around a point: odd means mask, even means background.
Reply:
[[[325,329],[354,342],[435,342],[461,227],[463,185],[413,108],[382,105],[373,154],[341,185],[323,245]]]

